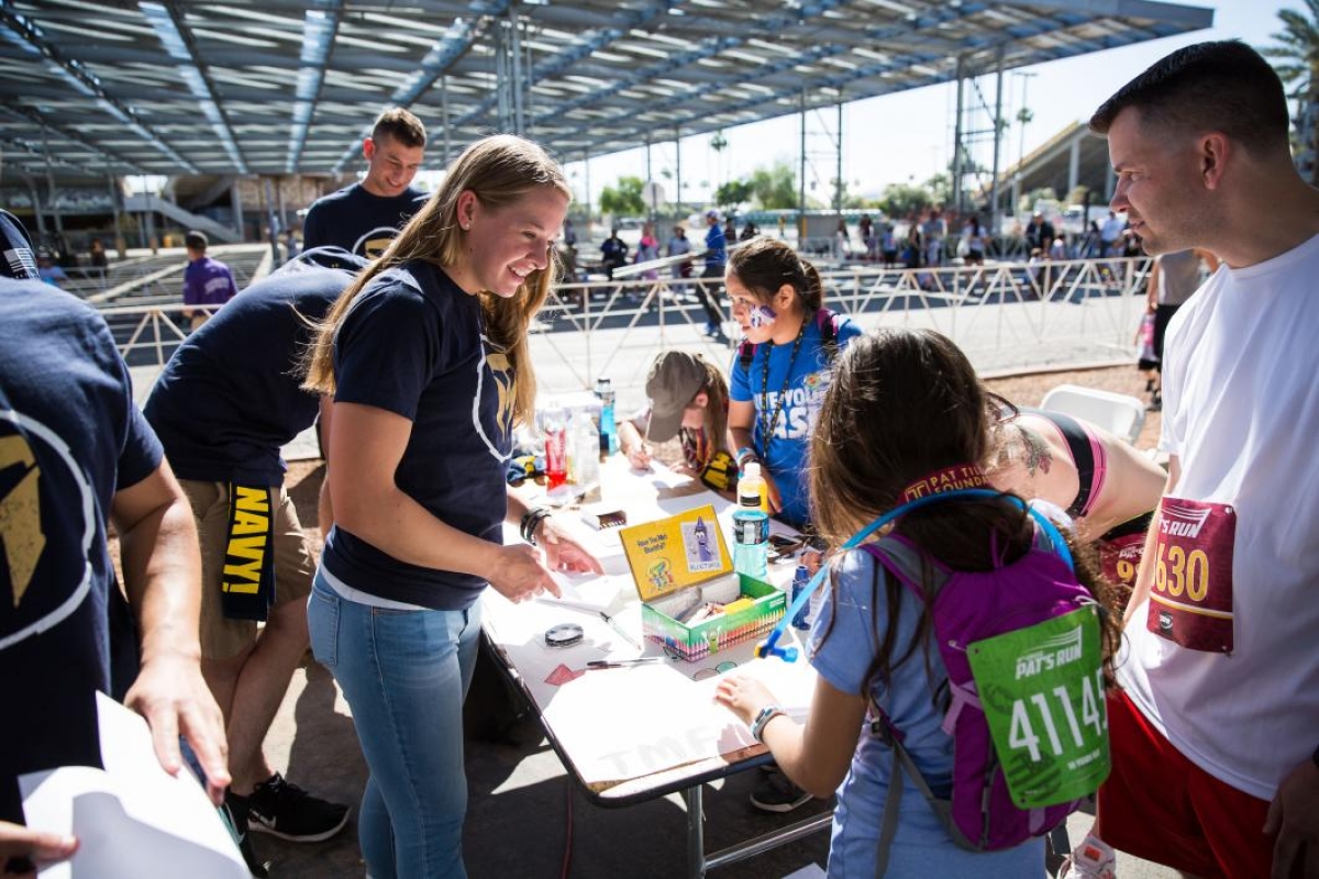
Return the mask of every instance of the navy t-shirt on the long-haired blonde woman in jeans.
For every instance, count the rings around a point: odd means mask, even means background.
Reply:
[[[413,423],[394,481],[446,525],[503,543],[504,473],[512,452],[513,369],[485,337],[480,302],[426,262],[376,277],[335,339],[335,402]],[[485,581],[400,561],[338,525],[323,564],[381,598],[463,610]]]

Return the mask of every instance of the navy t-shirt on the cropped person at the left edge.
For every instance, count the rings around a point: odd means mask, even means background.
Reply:
[[[161,447],[106,322],[40,281],[0,278],[0,820],[17,776],[99,766],[108,693],[106,518]]]

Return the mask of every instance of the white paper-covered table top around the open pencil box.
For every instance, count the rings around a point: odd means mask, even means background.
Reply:
[[[720,496],[661,465],[652,473],[633,470],[621,456],[611,459],[603,473],[604,502],[624,509],[629,525],[712,503],[731,546],[733,505]],[[565,513],[572,515],[571,510]],[[774,530],[791,534],[777,525]],[[805,716],[815,687],[814,669],[805,659],[797,663],[753,659],[756,642],[698,663],[675,659],[587,671],[588,660],[663,656],[663,651],[642,640],[641,604],[617,532],[595,531],[582,523],[578,535],[598,553],[605,576],[565,577],[565,602],[546,597],[514,605],[488,589],[483,614],[487,633],[521,677],[561,756],[583,784],[601,791],[641,780],[644,787],[645,779],[663,778],[675,767],[764,752],[747,726],[714,701],[718,683],[714,669],[727,663],[761,676],[790,713]],[[509,527],[505,539],[516,540],[516,528]],[[770,565],[770,580],[786,585],[793,569],[791,564]],[[605,622],[600,609],[628,637]],[[583,627],[582,642],[570,647],[547,646],[545,631],[568,622]],[[787,633],[798,634],[791,627]],[[801,646],[799,638],[794,640]],[[702,680],[694,679],[698,671]],[[638,785],[628,784],[627,789],[636,791]]]

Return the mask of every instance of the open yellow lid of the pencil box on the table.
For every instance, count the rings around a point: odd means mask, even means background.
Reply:
[[[642,601],[670,596],[732,571],[712,503],[619,531]]]

